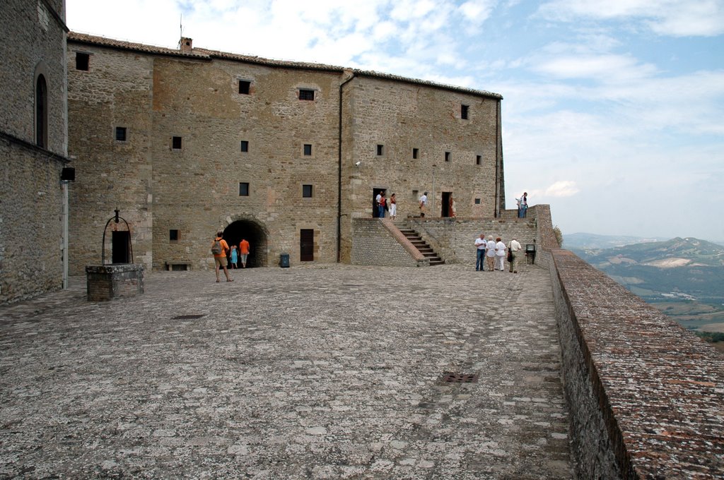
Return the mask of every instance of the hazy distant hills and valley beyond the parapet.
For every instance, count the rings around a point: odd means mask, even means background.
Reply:
[[[574,238],[586,242],[583,237]],[[573,247],[568,242],[563,247],[682,325],[724,332],[721,245],[677,237],[610,248]]]

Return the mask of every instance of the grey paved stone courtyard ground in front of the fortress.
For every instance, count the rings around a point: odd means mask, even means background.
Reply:
[[[547,270],[233,275],[0,307],[0,477],[573,478]]]

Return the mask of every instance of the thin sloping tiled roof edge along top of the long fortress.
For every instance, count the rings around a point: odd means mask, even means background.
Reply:
[[[264,59],[260,56],[241,55],[239,53],[229,53],[218,50],[208,50],[206,48],[193,48],[190,52],[182,52],[180,49],[165,48],[159,46],[151,46],[143,43],[133,43],[123,40],[114,40],[113,38],[98,37],[96,35],[87,35],[85,33],[70,32],[68,34],[68,41],[77,43],[90,43],[91,45],[106,46],[110,48],[121,48],[124,50],[142,51],[146,53],[153,53],[158,55],[171,55],[180,57],[191,57],[195,59],[224,59],[231,61],[241,61],[250,64],[266,65],[268,67],[283,67],[291,69],[308,69],[308,70],[319,70],[323,72],[342,72],[348,71],[353,72],[355,76],[359,77],[374,77],[383,80],[392,80],[395,82],[405,82],[414,85],[424,85],[427,87],[442,88],[443,90],[452,90],[460,93],[467,93],[470,95],[481,95],[484,97],[491,97],[502,99],[502,95],[498,93],[487,92],[485,90],[474,90],[472,88],[457,87],[455,85],[445,85],[437,82],[430,82],[429,80],[418,80],[408,77],[400,77],[399,75],[386,74],[380,72],[374,72],[371,70],[358,70],[358,69],[346,69],[345,67],[337,67],[334,65],[315,64],[302,61],[288,61],[288,60],[272,60]]]

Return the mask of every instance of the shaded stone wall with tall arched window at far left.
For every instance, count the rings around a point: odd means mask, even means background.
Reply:
[[[0,9],[0,304],[62,288],[67,165],[62,1]],[[47,85],[47,143],[35,145],[35,82]]]

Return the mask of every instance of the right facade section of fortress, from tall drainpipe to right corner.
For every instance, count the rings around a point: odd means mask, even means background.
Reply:
[[[426,191],[429,216],[440,215],[442,192],[452,193],[458,216],[494,216],[499,98],[364,75],[342,90],[342,211],[372,217],[373,191],[386,189],[396,194],[399,218],[418,215]],[[342,218],[342,261],[350,221]]]

